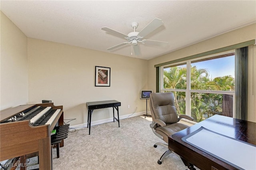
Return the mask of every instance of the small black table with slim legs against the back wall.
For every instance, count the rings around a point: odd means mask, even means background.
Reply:
[[[118,127],[120,127],[118,106],[121,106],[121,103],[119,101],[116,101],[116,100],[87,102],[86,103],[86,107],[88,109],[87,128],[88,128],[88,125],[89,125],[89,134],[90,134],[90,130],[91,130],[92,112],[93,112],[94,109],[103,109],[103,108],[112,107],[113,108],[114,122],[115,122],[115,119],[116,119],[116,121],[118,121]],[[116,111],[117,111],[117,118],[115,117],[114,109],[116,109]]]

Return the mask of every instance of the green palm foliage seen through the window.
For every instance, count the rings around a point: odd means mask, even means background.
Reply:
[[[211,91],[234,91],[235,79],[231,75],[209,78],[207,69],[191,67],[191,89]],[[164,70],[164,89],[186,89],[186,67],[169,67]],[[173,91],[178,115],[186,114],[186,93]],[[190,93],[191,116],[200,122],[222,112],[222,94]]]

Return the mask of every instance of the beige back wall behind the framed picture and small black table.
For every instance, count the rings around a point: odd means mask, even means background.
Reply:
[[[86,102],[117,100],[120,115],[146,110],[148,61],[28,38],[29,103],[52,100],[63,105],[71,125],[87,122]],[[110,87],[95,87],[95,66],[110,67]],[[128,105],[130,108],[128,109]],[[111,109],[94,110],[92,121],[112,119]]]

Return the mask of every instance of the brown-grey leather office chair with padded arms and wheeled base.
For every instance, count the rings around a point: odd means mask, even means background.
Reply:
[[[157,142],[154,144],[154,147],[156,148],[160,145],[168,148],[168,136],[189,127],[188,125],[178,123],[178,121],[183,118],[190,121],[193,121],[194,119],[188,115],[180,115],[178,117],[174,106],[173,93],[151,93],[149,102],[152,115],[152,123],[150,124],[150,127],[156,136],[166,142]],[[162,160],[170,153],[172,153],[172,151],[169,149],[164,152],[158,160],[158,164],[162,164]],[[185,160],[182,159],[182,161],[184,162]],[[189,164],[188,162],[184,162],[184,164],[188,166],[189,169],[194,169],[192,164]]]

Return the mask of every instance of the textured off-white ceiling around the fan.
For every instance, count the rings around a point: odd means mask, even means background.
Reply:
[[[26,36],[108,53],[151,59],[256,22],[256,1],[129,0],[129,1],[5,1],[1,11]],[[167,47],[140,44],[141,55],[131,55],[131,45],[106,50],[125,39],[101,30],[123,34],[140,32],[154,18],[164,25],[144,39],[169,42]]]

